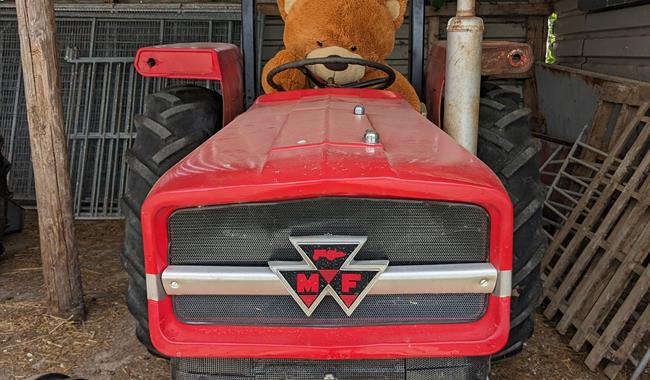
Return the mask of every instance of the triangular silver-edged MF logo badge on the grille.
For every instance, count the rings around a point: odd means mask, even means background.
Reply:
[[[328,294],[348,316],[386,270],[387,260],[354,261],[368,238],[365,236],[291,237],[302,262],[271,261],[300,308],[310,316]]]

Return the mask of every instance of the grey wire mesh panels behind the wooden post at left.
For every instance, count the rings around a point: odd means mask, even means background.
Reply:
[[[178,42],[239,44],[239,7],[59,5],[56,13],[74,212],[81,218],[119,217],[124,156],[135,137],[132,117],[142,112],[144,96],[182,83],[137,75],[136,50]],[[20,46],[10,5],[0,5],[0,133],[2,151],[12,162],[14,198],[33,203]]]

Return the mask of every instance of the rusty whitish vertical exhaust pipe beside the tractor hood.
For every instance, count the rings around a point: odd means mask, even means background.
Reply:
[[[456,16],[447,24],[447,67],[443,128],[476,154],[481,97],[483,19],[475,0],[458,0]]]

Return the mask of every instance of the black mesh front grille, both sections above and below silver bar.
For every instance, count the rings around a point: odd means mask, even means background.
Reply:
[[[184,209],[169,219],[171,265],[267,266],[300,260],[290,236],[358,235],[356,260],[390,265],[485,262],[489,223],[476,205],[364,198]],[[369,295],[352,317],[326,297],[307,317],[286,296],[175,296],[176,317],[192,324],[366,326],[462,323],[480,319],[484,294]]]

